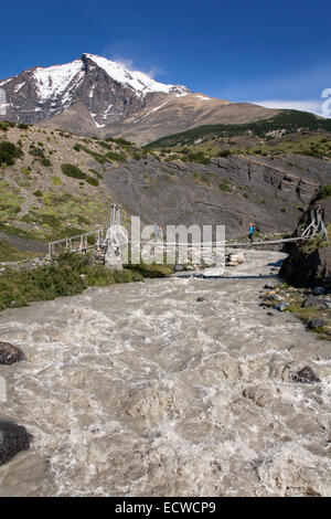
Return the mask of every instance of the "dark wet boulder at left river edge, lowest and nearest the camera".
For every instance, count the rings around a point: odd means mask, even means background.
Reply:
[[[9,462],[20,451],[26,451],[32,439],[22,425],[0,421],[0,465]]]

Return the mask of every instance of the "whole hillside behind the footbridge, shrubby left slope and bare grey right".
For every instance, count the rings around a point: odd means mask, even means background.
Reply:
[[[0,239],[40,252],[40,242],[107,225],[113,202],[124,208],[125,224],[130,214],[163,226],[224,224],[233,237],[254,220],[263,233],[287,232],[327,183],[330,148],[327,133],[148,149],[1,123]],[[33,247],[32,240],[39,241]],[[2,246],[0,261],[20,260],[18,248]]]

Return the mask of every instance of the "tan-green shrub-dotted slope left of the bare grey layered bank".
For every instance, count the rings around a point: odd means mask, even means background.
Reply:
[[[0,232],[46,242],[105,224],[106,167],[147,153],[124,139],[0,123]]]

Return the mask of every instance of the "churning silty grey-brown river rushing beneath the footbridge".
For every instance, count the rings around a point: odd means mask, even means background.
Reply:
[[[281,257],[0,314],[28,358],[0,367],[0,414],[34,437],[0,495],[330,495],[330,342],[259,307]],[[306,364],[321,383],[289,382]]]

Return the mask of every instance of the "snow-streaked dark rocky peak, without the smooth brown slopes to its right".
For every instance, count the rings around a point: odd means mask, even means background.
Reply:
[[[158,83],[93,54],[64,65],[30,68],[1,81],[0,88],[7,98],[2,119],[35,124],[74,109],[94,128],[153,107],[164,97],[190,93],[185,86]]]

